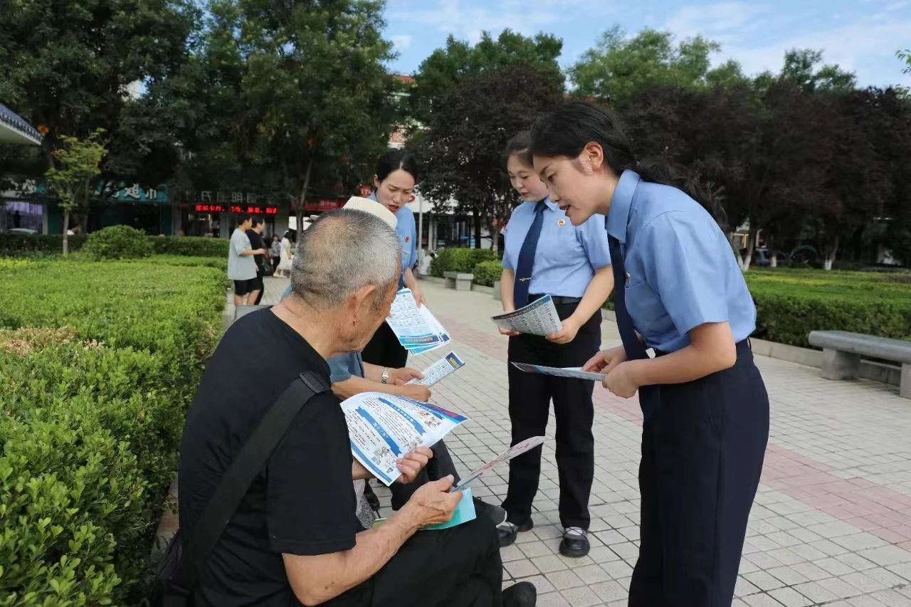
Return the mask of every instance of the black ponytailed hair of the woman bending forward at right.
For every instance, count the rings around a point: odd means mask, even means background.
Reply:
[[[589,101],[563,102],[532,125],[529,152],[533,156],[576,158],[590,142],[601,146],[604,158],[618,176],[624,170],[635,170],[642,180],[683,190],[709,211],[724,229],[727,218],[711,186],[672,167],[667,160],[636,159],[630,139],[620,127],[618,118],[607,108]]]

